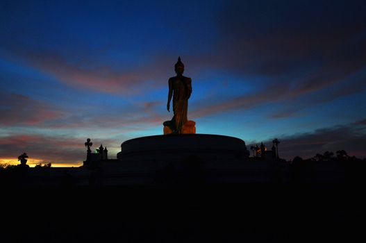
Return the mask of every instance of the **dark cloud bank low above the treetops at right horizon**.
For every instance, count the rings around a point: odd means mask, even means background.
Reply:
[[[278,153],[281,158],[292,159],[295,156],[310,158],[316,153],[344,149],[350,156],[366,157],[365,120],[353,124],[317,129],[313,133],[301,133],[292,136],[278,137]],[[272,140],[264,142],[269,149]]]

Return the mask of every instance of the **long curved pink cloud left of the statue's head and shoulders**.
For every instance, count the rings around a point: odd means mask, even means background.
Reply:
[[[167,74],[174,73],[173,65],[166,65],[167,58],[156,58],[142,67],[130,70],[116,69],[110,65],[89,65],[90,60],[81,63],[70,62],[64,56],[50,51],[34,53],[28,51],[25,55],[19,53],[25,60],[41,72],[57,78],[59,81],[73,87],[96,90],[99,92],[133,95],[154,89],[163,85]],[[123,71],[122,71],[123,70]]]

